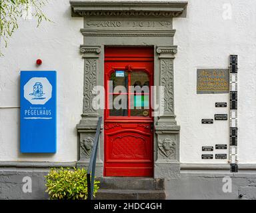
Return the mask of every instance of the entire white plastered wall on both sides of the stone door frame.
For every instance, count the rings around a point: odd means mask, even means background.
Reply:
[[[232,17],[227,15],[231,7]],[[0,160],[77,160],[77,133],[83,101],[83,60],[79,45],[82,18],[71,17],[68,0],[49,1],[45,13],[54,23],[21,21],[0,59],[0,107],[19,107],[19,71],[57,71],[57,154],[19,153],[19,108],[0,108]],[[201,118],[229,113],[215,108],[229,95],[197,95],[197,69],[227,69],[229,55],[239,55],[239,162],[256,163],[256,1],[189,0],[186,18],[175,18],[175,114],[181,126],[183,163],[201,160],[201,146],[229,143],[229,124],[201,124]],[[224,15],[224,16],[223,16]],[[226,17],[226,18],[225,18]],[[36,59],[43,65],[35,66]],[[227,153],[222,150],[215,153]],[[207,154],[205,152],[204,154]]]

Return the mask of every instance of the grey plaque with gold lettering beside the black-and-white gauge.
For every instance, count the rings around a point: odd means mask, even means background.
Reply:
[[[197,69],[197,94],[229,93],[228,69]]]

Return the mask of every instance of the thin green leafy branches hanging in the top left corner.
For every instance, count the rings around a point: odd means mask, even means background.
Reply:
[[[42,11],[47,2],[48,0],[0,0],[0,39],[5,42],[5,47],[7,39],[19,28],[20,17],[35,17],[37,27],[43,20],[50,21]]]

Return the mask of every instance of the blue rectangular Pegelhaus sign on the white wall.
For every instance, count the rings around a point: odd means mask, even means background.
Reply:
[[[21,152],[56,152],[56,71],[21,71]]]

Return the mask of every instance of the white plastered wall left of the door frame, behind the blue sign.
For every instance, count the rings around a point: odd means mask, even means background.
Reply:
[[[19,152],[19,108],[0,108],[0,160],[77,160],[77,132],[83,107],[83,19],[71,17],[69,1],[49,1],[43,9],[53,23],[19,21],[19,29],[1,45],[0,107],[19,107],[19,71],[57,71],[57,153]],[[37,59],[43,64],[35,65]]]

